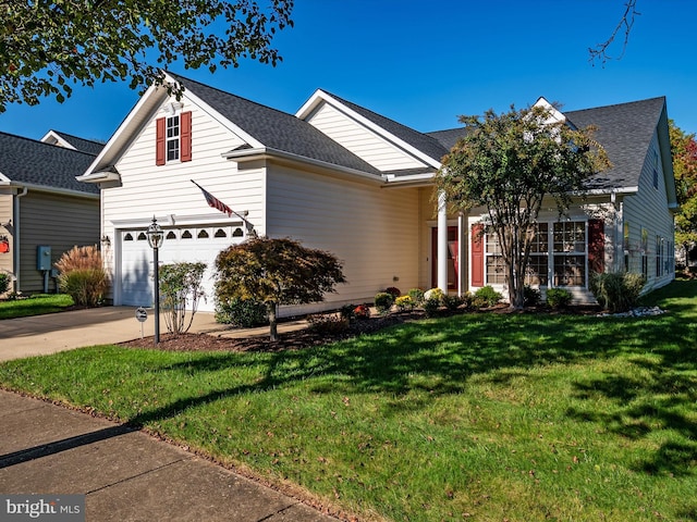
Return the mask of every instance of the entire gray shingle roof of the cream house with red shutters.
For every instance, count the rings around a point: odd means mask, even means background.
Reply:
[[[376,175],[380,174],[372,165],[292,114],[179,75],[172,74],[172,76],[266,147]],[[339,96],[328,94],[438,161],[466,132],[464,127],[458,127],[419,133]],[[638,185],[651,137],[664,108],[665,98],[661,97],[564,113],[568,121],[578,127],[587,125],[598,127],[596,137],[606,148],[613,164],[609,171],[590,178],[589,188],[608,189]]]

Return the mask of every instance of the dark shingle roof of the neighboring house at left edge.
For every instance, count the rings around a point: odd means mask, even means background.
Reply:
[[[94,160],[86,152],[0,133],[0,173],[19,184],[99,194],[96,185],[75,179]]]

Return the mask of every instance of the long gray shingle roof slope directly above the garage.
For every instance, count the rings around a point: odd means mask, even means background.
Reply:
[[[265,147],[376,176],[380,175],[380,171],[372,165],[293,114],[255,103],[176,74],[170,73],[170,75],[185,89],[254,136]]]

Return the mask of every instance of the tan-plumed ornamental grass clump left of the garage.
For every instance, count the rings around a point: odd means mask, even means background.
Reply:
[[[96,246],[73,247],[56,263],[60,271],[58,285],[77,306],[96,307],[109,289],[109,277],[102,269]]]

